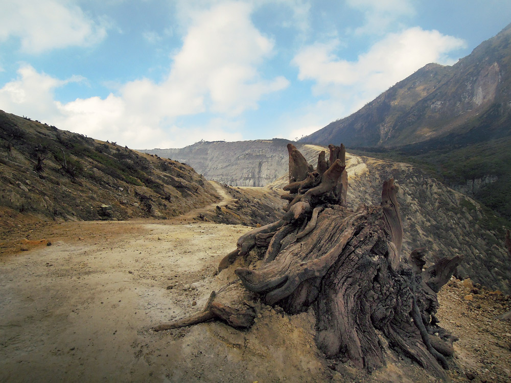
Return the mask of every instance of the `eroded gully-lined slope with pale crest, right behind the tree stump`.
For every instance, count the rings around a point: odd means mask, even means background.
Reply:
[[[350,162],[348,194],[352,204],[378,203],[383,181],[396,179],[406,254],[425,247],[430,261],[462,255],[458,277],[470,276],[482,285],[511,292],[507,267],[511,256],[505,250],[504,237],[487,228],[487,213],[476,201],[405,163],[358,156]]]

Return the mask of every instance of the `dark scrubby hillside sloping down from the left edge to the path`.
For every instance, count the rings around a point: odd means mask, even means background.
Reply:
[[[169,218],[218,200],[192,167],[0,111],[0,212],[52,220]]]

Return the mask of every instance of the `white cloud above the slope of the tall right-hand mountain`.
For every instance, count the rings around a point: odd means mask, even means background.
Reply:
[[[453,64],[449,53],[464,47],[463,40],[419,27],[388,34],[357,61],[338,58],[338,41],[304,47],[294,58],[300,80],[314,80],[316,94],[337,94],[346,87],[357,90],[370,101],[376,95],[403,80],[430,62]],[[354,93],[354,92],[351,92]]]

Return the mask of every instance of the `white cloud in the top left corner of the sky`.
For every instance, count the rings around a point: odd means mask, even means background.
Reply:
[[[104,21],[96,22],[80,7],[62,0],[3,0],[0,41],[18,37],[27,53],[87,46],[106,36]]]

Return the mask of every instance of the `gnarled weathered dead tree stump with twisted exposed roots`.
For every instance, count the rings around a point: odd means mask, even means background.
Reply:
[[[401,252],[398,187],[386,181],[378,206],[345,206],[344,146],[329,146],[316,171],[291,144],[288,206],[282,218],[242,235],[219,272],[236,268],[240,282],[214,292],[202,313],[163,324],[168,329],[219,319],[248,327],[253,302],[280,305],[289,314],[314,309],[316,344],[327,357],[372,371],[385,364],[381,337],[399,353],[445,378],[456,340],[437,325],[436,293],[461,257],[423,270],[426,249]],[[329,164],[329,169],[323,162]],[[220,309],[221,308],[221,309]]]

